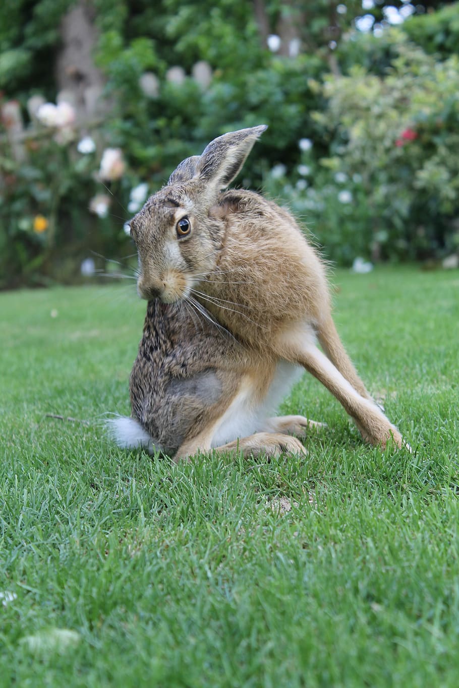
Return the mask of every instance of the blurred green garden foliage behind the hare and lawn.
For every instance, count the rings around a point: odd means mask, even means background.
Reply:
[[[75,4],[0,8],[0,286],[74,280],[91,252],[131,253],[122,226],[132,189],[144,182],[152,193],[186,155],[260,122],[269,129],[237,183],[288,204],[327,257],[349,265],[458,250],[458,3],[424,3],[391,27],[383,2],[94,0],[85,9],[105,111],[56,130],[30,114],[30,98],[56,101],[61,21]],[[363,14],[374,31],[356,28]],[[202,61],[206,83],[195,74]],[[24,120],[19,157],[12,101]],[[95,149],[81,153],[87,135]],[[100,175],[107,147],[125,163],[111,180]],[[98,195],[109,203],[101,217]]]

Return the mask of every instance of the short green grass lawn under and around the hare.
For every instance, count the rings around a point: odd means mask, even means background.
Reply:
[[[0,685],[459,685],[459,275],[334,283],[412,455],[310,377],[284,405],[328,422],[306,460],[125,453],[102,422],[129,412],[134,286],[0,294]],[[79,642],[22,640],[56,628]]]

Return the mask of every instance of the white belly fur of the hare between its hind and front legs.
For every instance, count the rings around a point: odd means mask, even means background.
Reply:
[[[255,402],[255,385],[250,385],[248,380],[244,380],[238,394],[220,418],[211,447],[220,447],[226,442],[265,430],[266,421],[275,415],[279,404],[288,396],[303,372],[303,368],[298,365],[279,361],[268,394],[261,402]]]

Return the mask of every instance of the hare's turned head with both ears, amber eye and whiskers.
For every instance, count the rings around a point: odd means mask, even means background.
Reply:
[[[231,131],[202,155],[186,158],[167,186],[151,196],[131,220],[138,249],[138,292],[173,303],[185,298],[218,261],[224,222],[215,212],[221,189],[241,169],[265,125]]]

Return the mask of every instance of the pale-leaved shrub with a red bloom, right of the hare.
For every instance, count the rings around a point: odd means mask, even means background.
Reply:
[[[328,155],[303,151],[305,188],[268,175],[335,261],[425,259],[459,250],[459,59],[443,62],[392,32],[386,76],[328,76],[314,117]],[[293,183],[292,183],[293,182]]]

